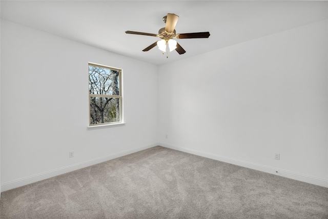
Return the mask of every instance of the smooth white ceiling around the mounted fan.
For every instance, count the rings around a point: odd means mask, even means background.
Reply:
[[[326,1],[1,1],[1,18],[156,65],[327,19]],[[209,38],[178,39],[187,51],[162,55],[162,17],[180,18],[176,33],[209,31]]]

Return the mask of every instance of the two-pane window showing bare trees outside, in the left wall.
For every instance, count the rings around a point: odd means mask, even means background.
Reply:
[[[122,123],[122,70],[89,63],[89,125]]]

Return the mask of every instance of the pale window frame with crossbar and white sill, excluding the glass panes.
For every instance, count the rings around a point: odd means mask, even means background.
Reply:
[[[106,65],[100,65],[100,64],[96,64],[96,63],[88,63],[88,70],[89,70],[89,66],[94,66],[94,67],[100,67],[100,68],[107,68],[107,69],[111,69],[111,70],[115,70],[119,72],[119,79],[118,79],[118,87],[119,87],[119,95],[101,95],[101,94],[90,94],[89,92],[89,87],[88,87],[88,98],[89,98],[89,128],[93,128],[93,127],[108,127],[108,126],[120,126],[124,123],[124,113],[123,113],[123,69],[120,68],[115,68],[115,67],[111,67],[111,66],[106,66]],[[88,84],[89,84],[89,71],[88,71]],[[90,85],[89,85],[90,86]],[[119,99],[119,122],[111,122],[111,123],[99,123],[99,124],[91,124],[91,106],[90,106],[90,97],[112,97],[112,98],[118,98]]]

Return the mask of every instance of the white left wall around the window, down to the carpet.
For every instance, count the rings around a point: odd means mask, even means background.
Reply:
[[[126,125],[87,129],[88,62],[123,69]],[[1,64],[3,190],[157,145],[157,66],[3,20]]]

